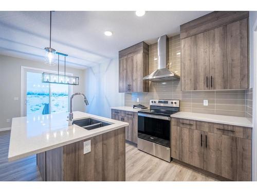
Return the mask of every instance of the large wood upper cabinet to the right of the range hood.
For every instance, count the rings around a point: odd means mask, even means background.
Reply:
[[[248,89],[248,16],[213,12],[180,26],[182,91]]]

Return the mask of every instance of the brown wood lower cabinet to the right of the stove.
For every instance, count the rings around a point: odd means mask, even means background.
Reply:
[[[171,157],[221,180],[251,180],[250,127],[172,118]]]

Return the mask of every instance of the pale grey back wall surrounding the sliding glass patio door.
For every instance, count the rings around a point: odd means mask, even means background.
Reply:
[[[0,129],[11,126],[6,119],[20,117],[20,98],[21,98],[21,66],[40,68],[46,70],[57,70],[57,66],[46,66],[43,62],[31,61],[16,57],[0,55]],[[61,67],[61,70],[63,67]],[[84,70],[66,68],[68,73],[79,76],[79,86],[74,86],[73,92],[84,92]],[[19,100],[14,100],[19,97]],[[85,111],[82,97],[74,99],[74,110]]]

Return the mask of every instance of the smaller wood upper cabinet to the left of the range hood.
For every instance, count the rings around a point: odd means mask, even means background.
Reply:
[[[149,45],[140,42],[119,51],[119,92],[148,92]]]

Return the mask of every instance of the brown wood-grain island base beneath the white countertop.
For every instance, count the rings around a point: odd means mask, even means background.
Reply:
[[[91,152],[84,154],[84,141]],[[125,181],[124,127],[37,155],[44,181]]]

